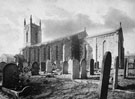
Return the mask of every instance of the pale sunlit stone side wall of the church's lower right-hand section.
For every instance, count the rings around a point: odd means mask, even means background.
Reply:
[[[88,37],[85,39],[87,43],[87,61],[88,65],[90,59],[94,59],[99,62],[99,67],[102,65],[102,59],[105,52],[110,51],[112,53],[112,66],[114,58],[118,56],[118,34],[110,33],[106,35],[100,35],[96,37]]]

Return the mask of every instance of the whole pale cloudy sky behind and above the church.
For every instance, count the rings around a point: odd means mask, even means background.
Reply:
[[[42,22],[42,42],[81,32],[116,30],[122,22],[125,53],[135,53],[135,0],[0,0],[0,55],[24,47],[24,18]]]

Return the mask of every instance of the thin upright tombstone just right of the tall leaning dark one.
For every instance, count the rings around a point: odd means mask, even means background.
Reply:
[[[119,57],[115,58],[114,63],[114,76],[113,76],[113,90],[118,87],[118,69],[119,69]]]

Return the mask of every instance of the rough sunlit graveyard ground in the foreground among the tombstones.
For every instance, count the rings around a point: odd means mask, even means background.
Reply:
[[[83,80],[70,80],[70,75],[33,76],[30,80],[32,90],[21,99],[98,99],[98,74]],[[123,70],[119,70],[118,84],[115,91],[109,85],[108,99],[135,99],[135,78],[123,79]],[[0,99],[13,98],[0,91]]]

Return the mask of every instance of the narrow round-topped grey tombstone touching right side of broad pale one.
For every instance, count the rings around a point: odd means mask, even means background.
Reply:
[[[81,61],[81,79],[87,78],[87,71],[86,71],[86,60],[83,59]]]

